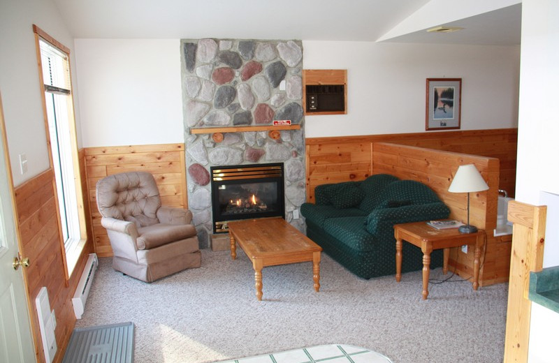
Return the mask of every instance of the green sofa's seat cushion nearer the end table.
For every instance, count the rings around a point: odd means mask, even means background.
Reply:
[[[324,232],[340,243],[356,251],[375,249],[375,237],[363,228],[366,216],[328,218],[324,221]]]

